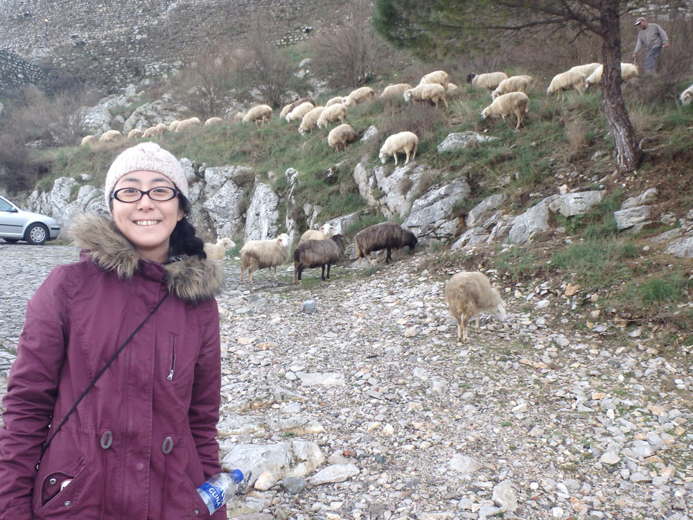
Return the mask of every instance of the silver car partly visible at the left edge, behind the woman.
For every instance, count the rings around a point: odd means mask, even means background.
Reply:
[[[57,239],[59,234],[60,225],[55,218],[19,209],[0,195],[0,239],[41,245]]]

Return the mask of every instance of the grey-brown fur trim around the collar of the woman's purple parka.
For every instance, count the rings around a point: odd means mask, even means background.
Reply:
[[[69,236],[97,266],[115,271],[119,278],[130,278],[139,269],[139,255],[109,218],[78,215],[69,225]],[[217,260],[184,257],[164,265],[164,272],[168,291],[181,300],[200,302],[222,289],[222,267]]]

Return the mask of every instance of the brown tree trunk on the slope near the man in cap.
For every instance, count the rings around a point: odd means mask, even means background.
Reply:
[[[602,107],[616,148],[616,171],[626,173],[640,165],[642,153],[621,94],[621,33],[619,0],[602,0]]]

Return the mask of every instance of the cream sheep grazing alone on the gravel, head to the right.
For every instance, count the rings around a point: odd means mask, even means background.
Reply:
[[[505,304],[491,282],[480,272],[458,272],[445,286],[445,300],[450,315],[457,320],[457,340],[467,343],[467,323],[476,320],[479,330],[479,313],[490,313],[505,321]]]

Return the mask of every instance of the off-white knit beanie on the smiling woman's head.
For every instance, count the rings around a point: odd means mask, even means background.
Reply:
[[[111,193],[120,178],[131,171],[140,170],[163,173],[184,196],[188,196],[188,180],[178,159],[158,144],[147,142],[123,150],[108,168],[103,187],[107,208],[111,207]]]

